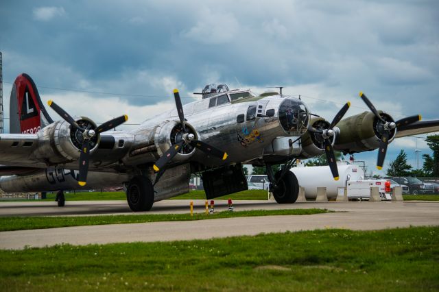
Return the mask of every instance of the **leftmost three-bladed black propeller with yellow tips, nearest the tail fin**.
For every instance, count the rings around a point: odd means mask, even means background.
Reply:
[[[122,123],[128,121],[128,116],[125,114],[121,117],[117,117],[116,119],[112,119],[110,121],[106,121],[101,125],[98,125],[94,129],[89,127],[84,127],[82,125],[78,125],[76,121],[68,114],[65,110],[63,110],[58,104],[55,104],[54,101],[47,101],[47,104],[57,113],[59,114],[64,121],[67,121],[71,125],[71,131],[76,130],[80,132],[80,134],[75,134],[78,140],[81,143],[81,153],[80,153],[80,167],[79,167],[79,176],[78,176],[78,184],[80,186],[85,186],[87,181],[87,173],[88,173],[88,162],[90,156],[90,145],[91,139],[94,137],[99,137],[99,134],[106,132],[113,127],[117,127]],[[93,148],[93,147],[92,147]]]

